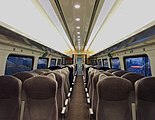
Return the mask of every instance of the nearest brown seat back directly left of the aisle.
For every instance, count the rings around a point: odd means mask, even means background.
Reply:
[[[58,120],[57,82],[49,77],[36,76],[23,84],[26,102],[24,120]]]

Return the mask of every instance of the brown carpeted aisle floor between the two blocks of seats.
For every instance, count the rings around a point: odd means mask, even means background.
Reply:
[[[88,104],[86,103],[86,96],[81,75],[78,75],[76,78],[67,120],[89,120]]]

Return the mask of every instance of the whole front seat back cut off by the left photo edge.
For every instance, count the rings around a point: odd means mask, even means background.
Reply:
[[[0,120],[19,120],[21,86],[14,76],[0,76]]]

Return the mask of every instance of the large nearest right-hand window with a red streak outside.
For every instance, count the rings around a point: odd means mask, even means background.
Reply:
[[[125,69],[145,76],[151,76],[151,67],[148,56],[125,57]]]

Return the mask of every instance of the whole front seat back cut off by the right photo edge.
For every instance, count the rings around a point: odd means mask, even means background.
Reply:
[[[155,120],[155,77],[135,83],[137,120]]]

